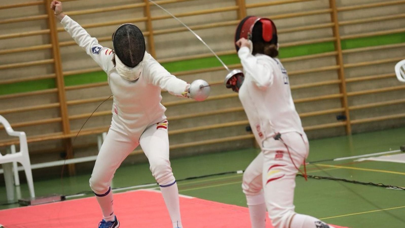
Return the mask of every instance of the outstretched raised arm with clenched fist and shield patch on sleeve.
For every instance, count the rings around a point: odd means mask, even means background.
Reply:
[[[87,55],[90,55],[105,72],[113,68],[113,63],[111,62],[113,51],[107,47],[102,47],[98,43],[98,40],[91,37],[79,23],[65,15],[62,11],[62,2],[52,1],[51,9],[55,12],[55,17],[59,19],[65,30],[86,51]]]

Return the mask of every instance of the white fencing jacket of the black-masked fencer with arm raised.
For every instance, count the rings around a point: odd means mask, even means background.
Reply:
[[[62,21],[65,30],[76,43],[107,73],[108,83],[114,95],[113,123],[120,130],[132,134],[138,140],[142,132],[152,124],[166,119],[166,108],[160,103],[161,90],[181,96],[188,83],[171,75],[149,53],[144,58],[139,79],[128,81],[120,76],[112,62],[113,51],[98,44],[79,23],[65,16]]]

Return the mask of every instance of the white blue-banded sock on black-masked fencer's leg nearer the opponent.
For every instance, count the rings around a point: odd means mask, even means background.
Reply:
[[[170,219],[173,223],[173,228],[182,228],[180,218],[180,203],[179,203],[179,189],[177,188],[176,181],[167,185],[160,185],[160,191],[164,202],[166,203],[167,210],[169,211]]]

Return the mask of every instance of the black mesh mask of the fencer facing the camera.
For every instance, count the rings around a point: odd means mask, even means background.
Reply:
[[[128,67],[135,67],[145,55],[145,38],[142,31],[133,24],[119,26],[113,34],[115,55]]]

